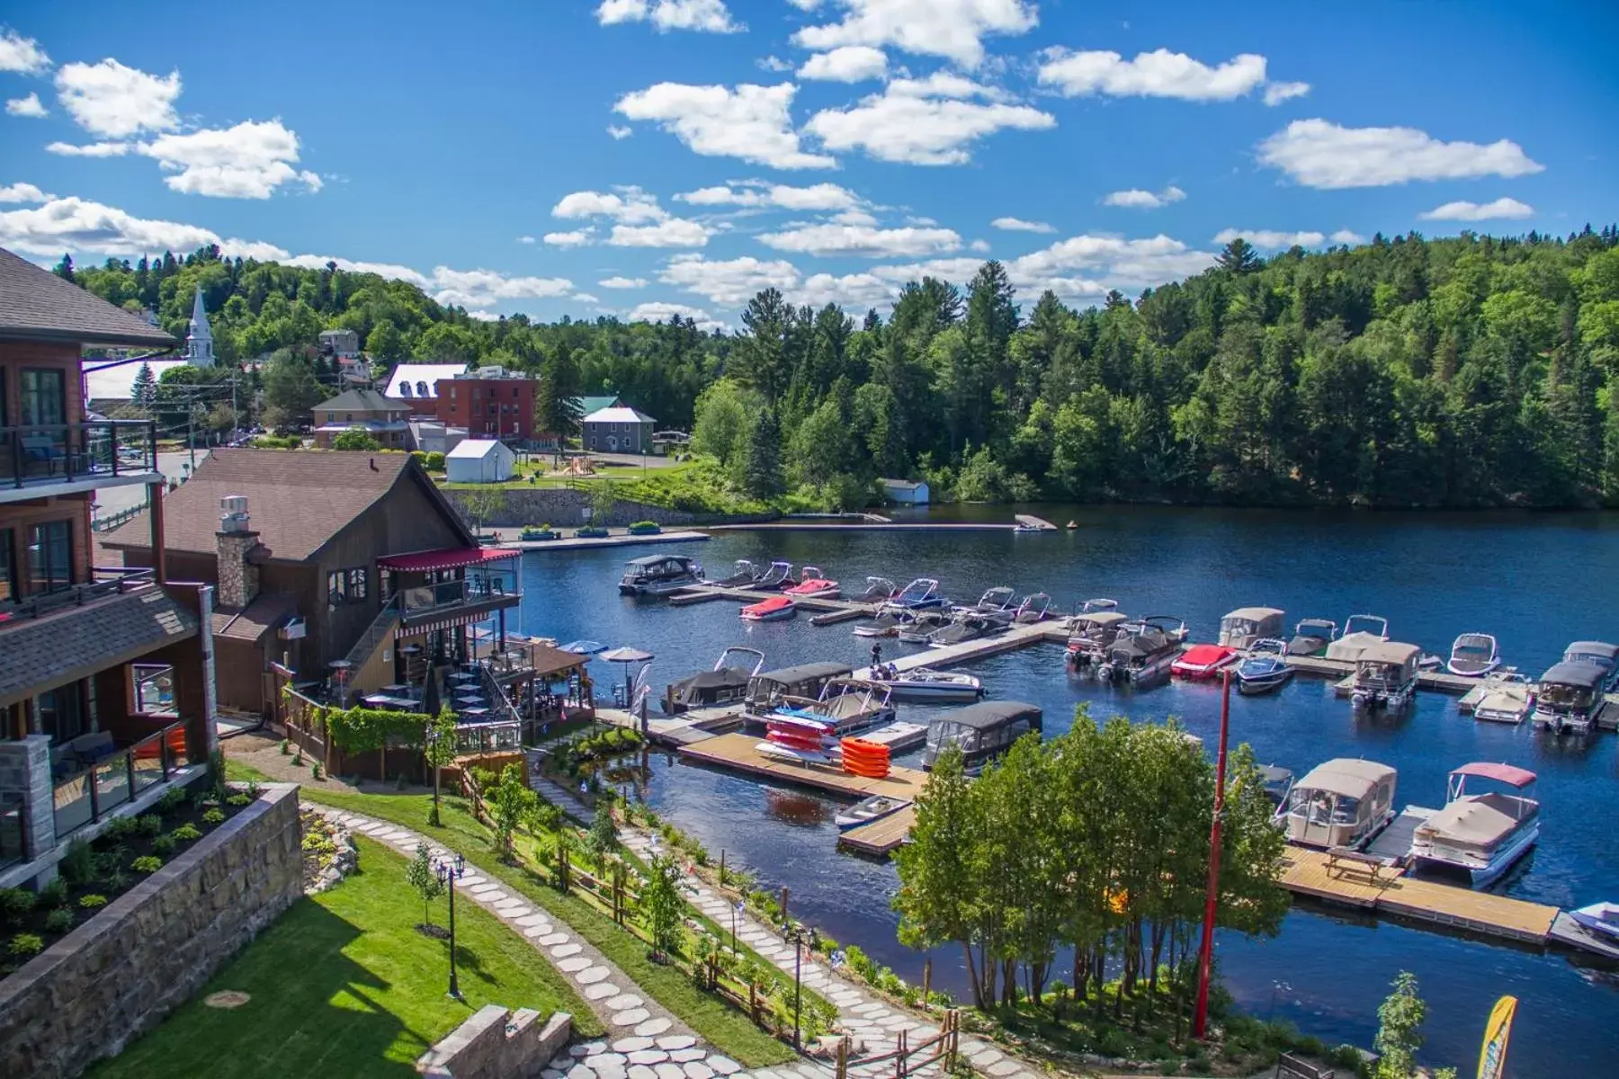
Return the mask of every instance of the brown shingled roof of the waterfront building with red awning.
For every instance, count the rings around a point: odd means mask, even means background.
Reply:
[[[406,453],[317,453],[312,450],[214,450],[185,484],[164,497],[164,540],[172,552],[219,550],[219,500],[246,495],[259,542],[277,561],[304,561],[395,484],[419,482],[442,498]],[[476,547],[455,510],[445,516]],[[100,539],[102,547],[147,548],[146,513]]]

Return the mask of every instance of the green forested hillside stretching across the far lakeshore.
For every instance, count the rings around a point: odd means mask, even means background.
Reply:
[[[384,366],[576,370],[693,425],[754,497],[855,505],[876,476],[924,476],[960,498],[1619,505],[1614,226],[1268,260],[1234,241],[1198,277],[1085,311],[1018,298],[988,262],[908,285],[886,320],[764,291],[737,335],[479,322],[403,281],[212,251],[76,280],[178,333],[199,283],[228,362],[351,327]]]

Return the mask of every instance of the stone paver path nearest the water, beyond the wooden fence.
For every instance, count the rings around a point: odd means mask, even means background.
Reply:
[[[578,799],[573,798],[572,791],[567,791],[557,783],[531,776],[531,785],[541,798],[554,802],[586,823],[589,823],[594,815],[589,807],[580,804]],[[659,849],[659,840],[641,828],[623,828],[622,838],[625,846],[643,857]],[[735,917],[738,941],[746,943],[756,953],[764,956],[767,963],[776,964],[788,975],[793,972],[792,943],[782,940],[782,937],[777,935],[771,925],[758,920],[753,916],[753,911],[746,908],[737,911],[725,899],[725,896],[719,895],[695,877],[685,878],[685,890],[691,904],[708,916],[716,925],[722,930],[730,930],[732,917]],[[803,956],[801,979],[805,985],[814,988],[818,993],[837,1005],[839,1022],[848,1032],[853,1042],[853,1056],[856,1058],[892,1051],[900,1030],[910,1030],[911,1043],[929,1039],[939,1032],[939,1026],[936,1022],[929,1022],[928,1019],[907,1008],[900,1008],[899,1005],[890,1005],[886,998],[869,992],[865,985],[839,975],[827,963],[808,950]],[[1035,1064],[1017,1056],[1010,1056],[989,1042],[973,1035],[963,1034],[958,1047],[962,1056],[971,1063],[973,1071],[992,1076],[992,1079],[1038,1079],[1041,1076]],[[929,1066],[911,1074],[934,1076],[937,1073],[937,1066]],[[753,1073],[753,1076],[759,1079],[824,1079],[831,1074],[832,1068],[829,1064],[813,1060],[803,1060],[797,1064]],[[856,1066],[850,1068],[850,1074],[890,1076],[894,1074],[894,1064],[889,1061],[887,1064],[874,1064],[871,1068]],[[557,1079],[557,1076],[549,1076],[547,1079]],[[568,1079],[589,1077],[570,1076]],[[618,1077],[614,1076],[610,1079]],[[630,1076],[630,1079],[672,1079],[672,1076],[643,1074]],[[693,1076],[690,1079],[706,1077]]]

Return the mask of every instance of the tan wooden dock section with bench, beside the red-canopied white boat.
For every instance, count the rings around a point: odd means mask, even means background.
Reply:
[[[1536,945],[1546,941],[1557,917],[1557,908],[1433,880],[1413,880],[1397,865],[1379,869],[1376,880],[1371,867],[1328,872],[1326,851],[1298,846],[1287,849],[1282,886],[1328,903]]]

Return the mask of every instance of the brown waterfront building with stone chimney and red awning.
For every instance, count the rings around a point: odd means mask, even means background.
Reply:
[[[520,558],[478,547],[405,453],[215,450],[165,501],[176,576],[219,586],[220,704],[278,715],[280,686],[351,702],[504,639]],[[152,561],[142,518],[102,539]]]

